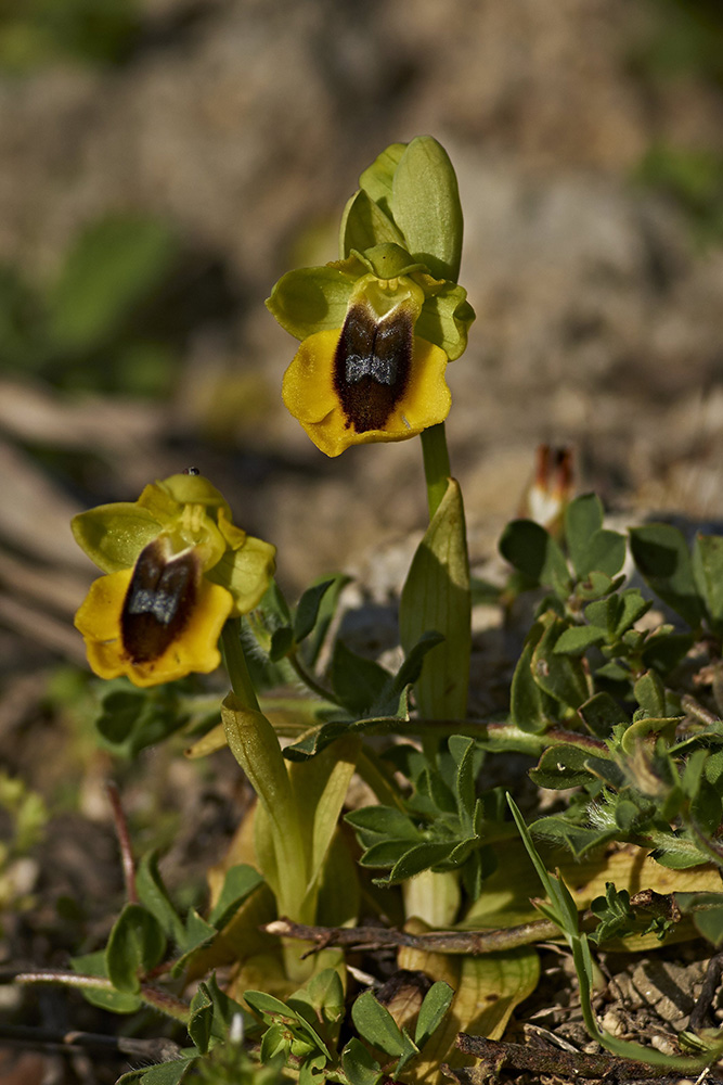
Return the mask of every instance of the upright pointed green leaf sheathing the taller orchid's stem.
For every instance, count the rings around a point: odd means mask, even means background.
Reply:
[[[430,630],[444,637],[425,660],[414,686],[423,716],[460,719],[467,714],[470,614],[462,494],[451,478],[412,560],[399,611],[406,653]]]

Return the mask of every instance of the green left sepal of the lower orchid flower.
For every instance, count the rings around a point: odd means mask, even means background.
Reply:
[[[104,573],[132,567],[141,550],[163,528],[147,509],[130,501],[81,512],[70,526],[78,546]]]

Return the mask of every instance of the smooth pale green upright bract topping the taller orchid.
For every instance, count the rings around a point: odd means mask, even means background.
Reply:
[[[444,148],[431,136],[409,144],[395,170],[393,220],[415,259],[437,279],[456,282],[462,257],[462,205]]]

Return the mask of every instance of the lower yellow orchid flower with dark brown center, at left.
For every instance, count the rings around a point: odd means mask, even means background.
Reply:
[[[224,622],[259,603],[274,571],[275,548],[236,527],[195,474],[83,512],[73,533],[106,574],[75,617],[88,662],[101,678],[126,675],[135,686],[215,671]]]

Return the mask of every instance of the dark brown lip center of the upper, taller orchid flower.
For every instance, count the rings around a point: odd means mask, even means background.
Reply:
[[[409,383],[413,333],[405,306],[382,319],[364,302],[350,306],[334,355],[334,391],[347,429],[384,429]]]

